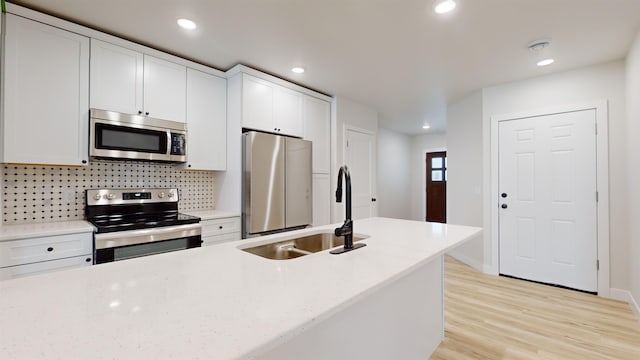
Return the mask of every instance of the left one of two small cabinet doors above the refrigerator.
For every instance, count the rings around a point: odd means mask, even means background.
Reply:
[[[242,127],[275,132],[274,85],[250,75],[242,77]]]

